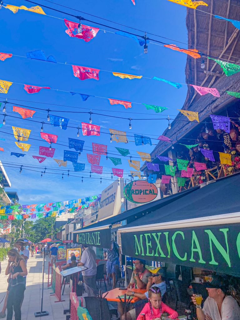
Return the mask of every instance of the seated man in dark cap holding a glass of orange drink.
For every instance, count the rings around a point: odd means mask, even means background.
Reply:
[[[208,297],[204,301],[203,309],[196,308],[198,320],[236,320],[240,319],[240,308],[236,300],[226,294],[227,285],[221,276],[212,275],[204,284]],[[195,295],[192,302],[196,305]]]

